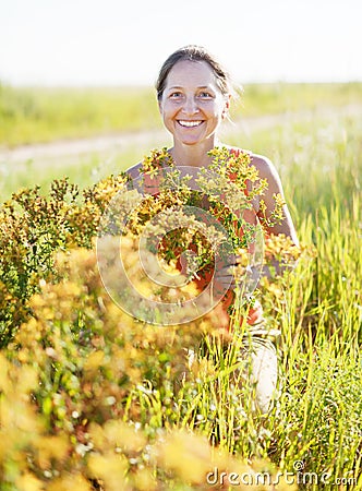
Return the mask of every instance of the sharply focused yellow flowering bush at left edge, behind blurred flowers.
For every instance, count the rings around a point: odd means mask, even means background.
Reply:
[[[28,299],[39,291],[39,282],[50,274],[55,278],[55,253],[93,247],[101,213],[125,181],[124,176],[111,176],[80,195],[67,179],[56,180],[48,196],[41,196],[37,187],[19,191],[2,205],[0,346],[29,315]]]

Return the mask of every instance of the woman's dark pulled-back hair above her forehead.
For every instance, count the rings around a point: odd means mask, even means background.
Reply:
[[[229,73],[216,61],[214,56],[202,46],[189,45],[172,52],[162,64],[156,82],[157,98],[162,97],[168,74],[179,61],[205,61],[213,69],[216,83],[224,95],[233,92]]]

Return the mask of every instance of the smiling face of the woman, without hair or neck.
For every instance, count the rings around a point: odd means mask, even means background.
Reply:
[[[228,108],[229,96],[221,93],[205,61],[179,61],[170,70],[159,109],[174,142],[196,145],[215,140]]]

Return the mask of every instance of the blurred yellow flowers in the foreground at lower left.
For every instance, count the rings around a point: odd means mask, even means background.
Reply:
[[[94,251],[55,264],[62,279],[41,282],[32,318],[0,355],[2,489],[205,489],[215,467],[255,472],[186,430],[200,378],[216,368],[189,370],[185,352],[218,336],[215,316],[147,325],[110,300]]]

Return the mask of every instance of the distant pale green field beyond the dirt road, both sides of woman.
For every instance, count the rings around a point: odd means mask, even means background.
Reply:
[[[359,103],[362,84],[252,84],[232,118]],[[0,145],[160,128],[150,87],[11,87],[0,83]]]

